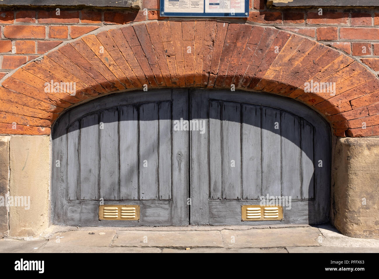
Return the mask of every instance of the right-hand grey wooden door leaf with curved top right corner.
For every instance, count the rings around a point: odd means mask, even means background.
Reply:
[[[195,90],[191,118],[207,127],[191,131],[191,224],[328,220],[330,129],[318,113],[280,96]],[[241,222],[241,205],[279,197],[284,221]]]

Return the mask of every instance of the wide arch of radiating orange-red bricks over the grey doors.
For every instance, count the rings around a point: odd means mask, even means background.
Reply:
[[[217,20],[151,20],[96,32],[3,80],[1,134],[49,134],[65,109],[116,91],[234,87],[303,102],[338,136],[379,135],[379,79],[360,61],[312,39]],[[51,80],[75,83],[75,94],[46,91]],[[306,90],[320,83],[322,90]]]

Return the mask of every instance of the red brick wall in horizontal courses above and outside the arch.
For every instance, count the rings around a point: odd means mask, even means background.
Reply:
[[[379,71],[379,10],[324,8],[323,15],[319,16],[317,9],[268,9],[264,0],[252,2],[247,22],[277,26],[308,36],[341,49],[373,71]],[[158,0],[143,0],[143,8],[148,10],[147,15],[142,10],[61,9],[60,16],[56,15],[55,9],[3,10],[0,12],[3,33],[0,39],[0,77],[65,40],[101,26],[158,19]]]

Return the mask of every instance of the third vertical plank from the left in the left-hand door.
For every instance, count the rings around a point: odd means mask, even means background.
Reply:
[[[119,199],[119,142],[117,109],[100,112],[100,198]],[[101,128],[101,126],[100,126]]]

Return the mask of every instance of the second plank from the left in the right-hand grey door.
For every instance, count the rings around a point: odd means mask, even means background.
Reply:
[[[224,102],[222,115],[222,198],[241,199],[241,105]]]

